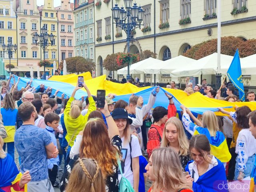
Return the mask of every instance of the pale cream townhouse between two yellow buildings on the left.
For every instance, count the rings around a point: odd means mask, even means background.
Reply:
[[[40,14],[34,0],[19,0],[17,6],[18,67],[25,71],[34,67],[41,59],[40,47],[36,46],[34,34],[40,34]],[[23,68],[23,70],[22,70]]]

